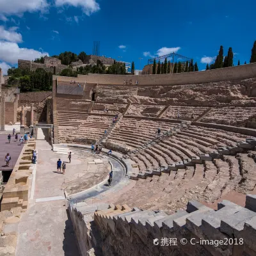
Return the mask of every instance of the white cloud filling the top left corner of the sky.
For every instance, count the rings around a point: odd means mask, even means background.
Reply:
[[[0,0],[0,17],[7,19],[8,15],[22,15],[24,12],[44,12],[48,7],[47,0]]]

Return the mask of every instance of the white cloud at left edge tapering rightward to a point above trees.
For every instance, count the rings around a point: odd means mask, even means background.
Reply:
[[[20,48],[16,43],[0,41],[0,60],[7,63],[15,64],[18,60],[35,60],[45,55],[49,56],[48,52]]]

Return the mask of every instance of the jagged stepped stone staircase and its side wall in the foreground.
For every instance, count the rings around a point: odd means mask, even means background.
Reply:
[[[196,201],[172,215],[84,202],[69,211],[81,255],[256,255],[255,205],[247,195],[245,207],[223,200],[217,211]]]

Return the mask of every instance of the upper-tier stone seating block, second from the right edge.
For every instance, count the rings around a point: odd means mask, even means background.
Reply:
[[[190,107],[190,106],[170,106],[166,113],[163,115],[163,118],[173,118],[177,119],[178,113],[180,113],[180,118],[191,118],[192,114],[194,115],[194,120],[201,116],[204,111],[207,111],[209,108],[205,107]]]

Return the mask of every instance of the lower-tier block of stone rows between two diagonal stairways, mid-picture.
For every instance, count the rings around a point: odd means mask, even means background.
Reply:
[[[126,145],[133,149],[154,139],[158,128],[163,133],[164,131],[170,131],[173,125],[168,122],[154,122],[151,120],[137,120],[124,117],[108,136],[108,141]]]

